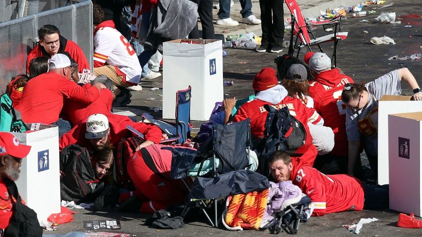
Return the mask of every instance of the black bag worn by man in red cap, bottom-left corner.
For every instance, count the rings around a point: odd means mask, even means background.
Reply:
[[[16,184],[8,178],[4,178],[3,180],[6,184],[9,194],[12,195],[16,200],[16,202],[13,202],[13,199],[11,199],[13,204],[13,215],[10,219],[9,225],[4,232],[4,236],[41,237],[42,227],[40,227],[38,223],[37,214],[34,212],[34,210],[22,204],[20,196],[17,192]]]

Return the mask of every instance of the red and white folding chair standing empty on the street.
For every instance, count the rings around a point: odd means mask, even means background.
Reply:
[[[334,67],[336,67],[337,59],[336,59],[336,50],[337,50],[337,42],[338,40],[345,40],[347,38],[348,32],[338,32],[341,29],[341,17],[342,15],[337,15],[334,18],[330,18],[324,21],[312,21],[306,22],[305,18],[302,14],[302,10],[299,7],[296,0],[284,0],[287,4],[287,7],[292,14],[292,36],[290,38],[290,46],[289,46],[289,55],[293,55],[295,50],[298,50],[298,54],[296,57],[299,56],[300,50],[303,47],[308,47],[310,51],[312,51],[312,46],[318,46],[319,51],[322,52],[322,48],[319,44],[325,42],[332,42],[334,41],[334,51],[332,53],[331,60],[334,59]],[[311,31],[312,26],[325,26],[334,27],[334,33],[325,35],[322,37],[315,37],[314,33]],[[312,39],[310,35],[312,36]],[[294,35],[297,35],[295,43],[293,43]],[[300,42],[299,42],[300,40]]]

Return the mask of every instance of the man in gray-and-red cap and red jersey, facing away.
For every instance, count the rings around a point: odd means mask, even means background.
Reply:
[[[337,172],[347,171],[346,107],[341,101],[341,92],[353,79],[338,68],[331,69],[331,59],[324,53],[315,53],[309,59],[309,68],[314,81],[309,84],[309,94],[314,99],[314,108],[324,119],[324,126],[334,132],[334,148],[316,160],[316,168],[329,173],[329,166],[337,166]],[[333,161],[334,160],[334,161]],[[330,162],[336,164],[328,165]],[[319,164],[320,163],[320,164]],[[322,166],[326,163],[325,168]],[[334,166],[333,166],[334,165]],[[340,170],[338,170],[338,168]],[[335,171],[331,168],[331,171]]]

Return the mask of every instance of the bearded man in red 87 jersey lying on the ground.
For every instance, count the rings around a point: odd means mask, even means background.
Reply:
[[[348,174],[325,175],[284,151],[271,154],[268,166],[275,182],[292,180],[311,198],[313,216],[389,206],[388,185],[365,184]]]

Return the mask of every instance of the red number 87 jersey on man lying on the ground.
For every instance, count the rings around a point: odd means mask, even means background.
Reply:
[[[299,158],[292,158],[292,163],[290,180],[311,198],[311,204],[315,205],[313,216],[363,209],[363,185],[355,177],[325,175]]]

